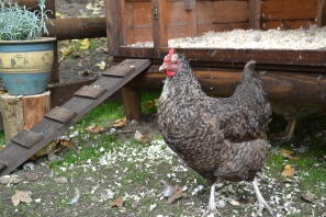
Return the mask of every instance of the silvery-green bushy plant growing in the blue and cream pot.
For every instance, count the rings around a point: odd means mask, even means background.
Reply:
[[[0,39],[26,41],[47,34],[45,0],[37,0],[40,10],[29,11],[12,0],[0,1]]]

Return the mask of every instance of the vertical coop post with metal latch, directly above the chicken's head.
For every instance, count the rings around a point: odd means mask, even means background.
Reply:
[[[161,47],[168,46],[167,0],[151,0],[153,42],[156,54]]]

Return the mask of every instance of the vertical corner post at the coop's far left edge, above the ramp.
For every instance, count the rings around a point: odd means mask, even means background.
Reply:
[[[122,5],[123,0],[105,0],[106,34],[109,53],[119,55],[119,47],[123,44],[122,38]]]

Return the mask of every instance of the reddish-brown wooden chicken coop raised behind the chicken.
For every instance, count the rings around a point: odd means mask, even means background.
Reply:
[[[325,0],[106,0],[110,54],[115,60],[148,58],[154,62],[128,85],[135,102],[138,88],[162,85],[165,75],[158,73],[158,66],[172,38],[236,28],[304,31],[311,25],[325,25]],[[137,46],[144,42],[147,46]],[[245,62],[254,59],[271,100],[326,105],[326,47],[175,48],[187,56],[203,88],[213,94],[231,95]]]

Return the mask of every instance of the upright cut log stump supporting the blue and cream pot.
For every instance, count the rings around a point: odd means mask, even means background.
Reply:
[[[1,94],[0,112],[5,141],[9,142],[20,130],[30,129],[43,121],[50,107],[49,99],[49,92],[25,96]]]

